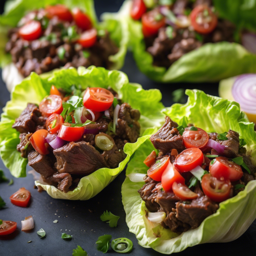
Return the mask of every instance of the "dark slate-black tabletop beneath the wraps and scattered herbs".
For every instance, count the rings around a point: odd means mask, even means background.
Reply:
[[[122,4],[122,0],[95,0],[97,15],[104,11],[115,12]],[[0,3],[3,8],[3,1]],[[157,84],[150,81],[137,67],[128,54],[125,66],[122,69],[128,74],[131,82],[143,85],[145,89],[158,88],[163,93],[163,104],[172,104],[171,92],[178,87],[197,88],[206,93],[218,95],[217,84]],[[0,80],[0,107],[6,104],[10,96],[3,81]],[[2,110],[0,111],[2,112]],[[1,131],[0,131],[1,132]],[[8,178],[12,178],[8,169],[0,161],[0,169],[3,169]],[[30,170],[28,168],[27,170]],[[99,236],[104,234],[112,235],[112,238],[126,237],[133,241],[134,248],[132,256],[158,256],[163,255],[152,249],[141,247],[137,243],[135,235],[129,233],[125,222],[125,212],[122,206],[121,185],[125,179],[125,172],[122,172],[116,180],[106,187],[99,195],[88,201],[67,201],[51,198],[46,192],[38,193],[34,186],[33,176],[28,174],[26,178],[13,178],[14,184],[0,183],[0,195],[6,202],[6,208],[0,210],[0,219],[17,222],[17,230],[12,235],[0,238],[0,256],[71,256],[72,250],[80,245],[87,251],[89,256],[103,255],[96,250]],[[11,204],[9,196],[20,187],[25,186],[32,194],[28,208],[16,207]],[[111,228],[100,220],[100,215],[105,211],[111,211],[119,215],[118,226]],[[35,221],[35,229],[31,233],[21,232],[21,223],[26,216],[32,215]],[[58,223],[53,223],[58,220]],[[37,231],[43,228],[46,236],[43,239],[37,235]],[[62,230],[62,231],[61,231]],[[61,233],[73,235],[70,241],[61,239]],[[30,243],[27,243],[31,241]],[[255,256],[256,255],[256,221],[236,241],[225,244],[202,244],[187,248],[177,256],[195,255],[234,255],[234,256]],[[117,256],[118,254],[109,250],[106,255]]]

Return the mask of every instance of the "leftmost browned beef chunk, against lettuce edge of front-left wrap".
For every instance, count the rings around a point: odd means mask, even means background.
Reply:
[[[38,125],[37,122],[39,116],[41,116],[41,112],[38,107],[35,104],[28,103],[27,107],[15,120],[12,128],[15,128],[20,133],[33,133]]]

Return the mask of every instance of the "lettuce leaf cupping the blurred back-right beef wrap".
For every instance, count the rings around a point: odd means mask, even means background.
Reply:
[[[146,1],[150,5],[152,1]],[[253,29],[256,26],[256,2],[249,0],[213,1],[219,17],[232,21],[237,29]],[[120,12],[128,23],[129,46],[142,73],[159,82],[215,82],[242,73],[256,72],[256,55],[241,44],[219,42],[207,43],[184,54],[168,69],[153,65],[152,55],[146,51],[142,25],[130,16],[132,0],[126,0]],[[149,6],[148,7],[151,7]]]

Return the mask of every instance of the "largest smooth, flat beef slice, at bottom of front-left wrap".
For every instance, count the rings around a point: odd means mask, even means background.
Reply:
[[[104,157],[90,143],[70,142],[53,150],[57,158],[58,172],[78,175],[89,175],[96,170],[108,167]]]

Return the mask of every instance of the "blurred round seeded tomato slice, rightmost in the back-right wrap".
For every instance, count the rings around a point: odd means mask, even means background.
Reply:
[[[190,19],[195,31],[201,34],[209,34],[218,23],[218,17],[206,5],[196,6],[190,14]]]

